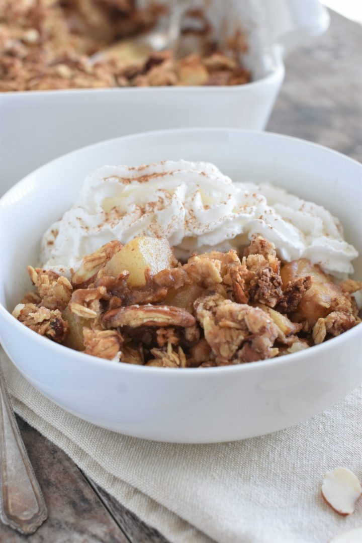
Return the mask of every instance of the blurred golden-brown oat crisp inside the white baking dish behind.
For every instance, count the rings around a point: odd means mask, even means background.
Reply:
[[[250,80],[237,60],[245,38],[236,36],[237,43],[230,44],[234,54],[224,54],[208,39],[207,26],[200,52],[180,59],[169,51],[133,65],[117,58],[90,59],[113,42],[154,27],[163,10],[156,2],[137,9],[135,0],[0,0],[0,91],[240,85]]]

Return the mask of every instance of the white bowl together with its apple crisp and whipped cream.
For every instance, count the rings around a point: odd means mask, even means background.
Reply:
[[[0,341],[27,393],[174,443],[341,400],[362,381],[361,169],[287,136],[177,129],[28,175],[0,200]]]

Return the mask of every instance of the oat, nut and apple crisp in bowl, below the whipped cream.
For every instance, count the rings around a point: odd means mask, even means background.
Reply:
[[[256,362],[360,322],[351,294],[362,283],[336,284],[306,259],[283,264],[261,236],[241,258],[235,250],[211,251],[182,264],[166,240],[142,237],[107,243],[84,258],[71,281],[52,270],[28,271],[36,290],[15,307],[18,320],[55,342],[129,364]]]

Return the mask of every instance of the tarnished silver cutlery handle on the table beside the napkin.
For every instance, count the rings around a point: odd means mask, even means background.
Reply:
[[[47,507],[10,406],[0,369],[0,519],[22,534],[46,520]]]

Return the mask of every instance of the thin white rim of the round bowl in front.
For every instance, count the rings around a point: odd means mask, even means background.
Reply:
[[[31,180],[31,178],[34,178],[34,176],[36,176],[37,173],[39,173],[42,169],[45,169],[45,168],[49,167],[54,162],[62,160],[65,157],[71,157],[73,154],[81,153],[85,149],[92,149],[92,148],[95,148],[95,147],[103,147],[103,146],[109,145],[110,143],[113,143],[113,142],[116,142],[116,141],[122,141],[122,140],[125,140],[125,139],[126,140],[132,140],[132,139],[150,137],[150,136],[155,136],[155,135],[185,134],[185,133],[189,134],[190,132],[193,132],[193,133],[221,132],[221,133],[224,133],[224,134],[225,134],[225,132],[226,133],[231,132],[231,133],[237,133],[237,134],[240,134],[240,133],[242,133],[242,134],[253,134],[253,135],[257,135],[257,137],[265,137],[267,139],[270,138],[270,139],[280,140],[282,142],[292,140],[292,141],[296,142],[297,144],[304,145],[306,147],[318,148],[323,152],[327,151],[328,153],[330,153],[332,155],[339,156],[342,160],[352,162],[355,165],[357,165],[361,169],[361,172],[362,172],[362,164],[360,162],[358,162],[355,159],[352,159],[351,157],[348,157],[348,156],[340,153],[339,151],[335,151],[334,149],[322,146],[319,143],[310,142],[310,141],[303,140],[302,138],[297,138],[297,137],[294,137],[294,136],[278,134],[276,132],[265,132],[265,131],[262,131],[262,130],[251,130],[251,129],[240,129],[240,128],[204,128],[204,127],[201,127],[201,128],[172,128],[172,129],[164,129],[164,130],[152,130],[152,131],[146,131],[146,132],[137,132],[136,134],[130,134],[130,135],[125,135],[125,136],[118,136],[116,138],[110,138],[108,140],[103,140],[103,141],[100,141],[100,142],[97,142],[97,143],[93,143],[91,145],[75,149],[75,150],[71,151],[70,153],[66,153],[64,155],[61,155],[61,156],[57,157],[56,159],[53,159],[52,161],[47,162],[45,165],[42,165],[39,168],[36,168],[33,172],[30,172],[29,174],[27,174],[23,179],[21,179],[14,186],[12,186],[0,198],[0,209],[2,207],[5,207],[5,206],[6,207],[11,206],[11,203],[9,203],[9,204],[6,203],[6,200],[11,198],[11,193],[16,192],[18,190],[18,187],[20,187],[22,185],[27,185],[28,182]],[[362,182],[362,180],[361,180],[361,182]],[[1,277],[0,277],[0,279],[1,279]],[[312,353],[311,353],[310,349],[305,349],[305,350],[298,351],[298,352],[295,352],[295,353],[290,353],[288,355],[283,355],[283,356],[275,357],[275,358],[267,358],[265,360],[259,360],[257,362],[253,362],[253,363],[218,366],[216,368],[215,367],[211,367],[211,368],[160,368],[160,367],[154,367],[154,366],[150,367],[150,366],[141,366],[141,365],[136,365],[136,364],[127,364],[127,363],[124,363],[124,362],[123,363],[118,363],[118,362],[110,361],[110,360],[107,360],[107,359],[104,359],[104,358],[99,358],[99,357],[92,356],[92,355],[86,355],[83,352],[75,351],[75,350],[73,350],[73,349],[71,349],[69,347],[66,347],[65,345],[61,345],[61,344],[52,342],[48,338],[40,336],[39,334],[37,334],[33,330],[30,330],[28,327],[26,327],[22,323],[20,323],[17,319],[15,319],[15,317],[12,316],[10,311],[8,311],[7,308],[1,302],[0,302],[0,318],[7,320],[8,323],[10,324],[10,326],[13,325],[13,326],[17,327],[18,333],[20,333],[20,334],[30,334],[30,336],[28,336],[29,340],[31,340],[31,338],[33,338],[35,343],[40,342],[40,343],[37,343],[39,345],[39,348],[43,348],[43,349],[46,348],[46,349],[49,350],[49,353],[51,353],[52,350],[53,350],[53,351],[59,353],[59,355],[61,355],[63,353],[63,355],[66,356],[66,352],[68,352],[69,356],[74,358],[74,361],[86,362],[87,364],[92,364],[92,365],[97,365],[97,366],[101,365],[102,367],[106,366],[106,367],[109,367],[109,368],[118,367],[120,369],[116,370],[116,371],[128,371],[128,372],[131,372],[131,373],[134,372],[134,371],[136,371],[138,373],[140,371],[143,371],[143,372],[144,371],[147,371],[147,372],[149,372],[149,371],[161,372],[161,375],[165,375],[165,376],[170,375],[170,373],[175,374],[176,376],[179,375],[179,371],[175,371],[175,370],[182,370],[182,374],[189,375],[191,373],[191,374],[193,374],[193,375],[195,375],[197,377],[197,376],[200,376],[200,375],[203,375],[203,374],[209,374],[210,371],[215,372],[215,375],[219,374],[220,372],[224,373],[225,371],[230,373],[230,375],[231,375],[232,372],[257,371],[257,368],[261,368],[261,369],[265,368],[265,367],[270,367],[271,368],[271,367],[275,367],[275,365],[280,366],[280,365],[283,365],[283,364],[287,364],[288,367],[289,367],[291,364],[297,364],[300,358],[302,358],[302,359],[303,358],[309,358],[311,356],[314,356],[313,353],[315,353],[315,355],[317,356],[317,354],[320,353],[322,351],[322,349],[324,349],[324,350],[331,349],[331,342],[332,342],[332,348],[333,348],[333,345],[335,345],[335,343],[337,341],[339,342],[339,344],[341,344],[342,342],[346,342],[347,340],[352,341],[354,338],[356,338],[358,336],[360,336],[360,338],[362,339],[362,323],[360,323],[360,324],[354,326],[352,329],[347,330],[346,332],[340,334],[340,336],[336,336],[334,338],[331,338],[325,343],[321,343],[319,345],[314,345],[311,348]],[[0,339],[1,339],[1,333],[0,333]],[[44,343],[44,342],[46,342],[46,343]],[[46,347],[46,345],[48,345],[48,347]],[[217,370],[217,371],[215,371],[215,370]]]

